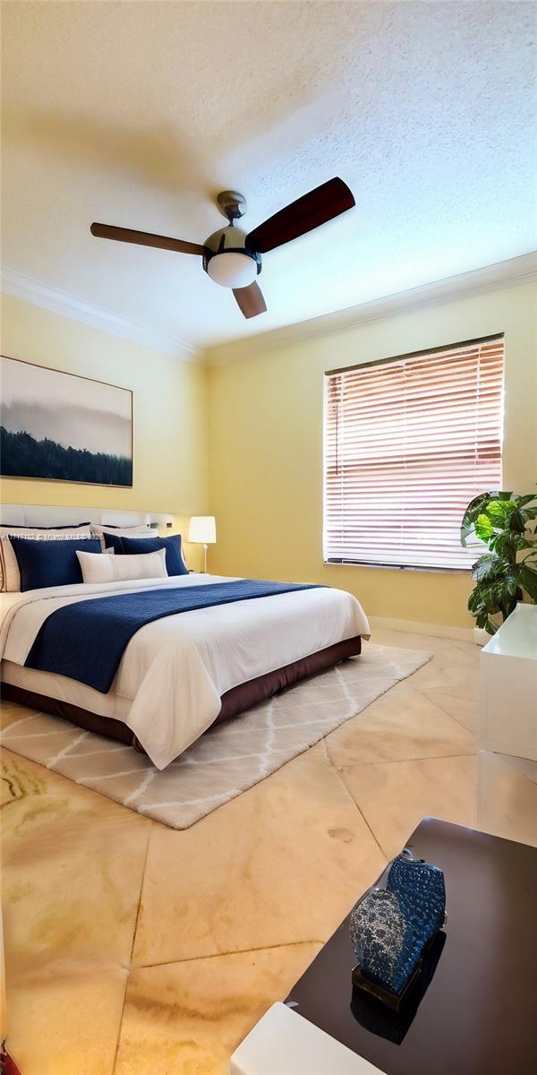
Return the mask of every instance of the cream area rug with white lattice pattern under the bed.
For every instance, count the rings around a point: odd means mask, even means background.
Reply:
[[[35,713],[9,725],[2,745],[173,829],[259,784],[362,713],[431,660],[418,649],[367,643],[360,657],[216,726],[159,772],[131,746]]]

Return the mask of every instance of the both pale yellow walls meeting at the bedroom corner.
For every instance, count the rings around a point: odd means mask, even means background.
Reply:
[[[467,574],[323,564],[322,374],[505,332],[504,486],[528,490],[537,482],[536,304],[527,284],[294,343],[252,339],[247,354],[205,371],[3,296],[3,354],[132,388],[134,486],[12,478],[2,500],[170,512],[183,533],[188,516],[212,512],[211,571],[326,583],[354,592],[372,616],[470,627]],[[187,558],[199,567],[197,547]]]

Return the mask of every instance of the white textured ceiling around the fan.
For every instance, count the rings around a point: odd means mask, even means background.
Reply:
[[[211,345],[514,257],[536,244],[532,3],[8,2],[3,263]],[[357,207],[266,255],[245,321],[202,242],[332,175]]]

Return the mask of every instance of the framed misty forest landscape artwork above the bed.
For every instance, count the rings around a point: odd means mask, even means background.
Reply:
[[[132,486],[132,392],[1,357],[0,472]]]

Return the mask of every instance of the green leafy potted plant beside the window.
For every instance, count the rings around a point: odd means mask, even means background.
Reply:
[[[468,504],[462,542],[475,533],[489,551],[473,565],[468,610],[494,634],[519,601],[537,603],[537,500],[534,493],[485,492]],[[495,617],[493,619],[492,617]]]

